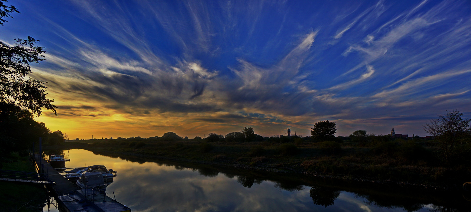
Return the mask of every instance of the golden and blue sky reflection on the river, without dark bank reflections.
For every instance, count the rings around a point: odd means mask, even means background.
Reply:
[[[133,212],[379,212],[407,211],[382,207],[368,196],[329,187],[290,185],[215,169],[136,163],[95,155],[82,149],[65,150],[68,168],[105,165],[118,171],[106,189]],[[371,196],[370,196],[371,197]],[[433,205],[412,204],[409,211],[430,211]]]

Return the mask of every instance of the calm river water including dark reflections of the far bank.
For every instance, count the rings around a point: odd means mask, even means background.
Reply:
[[[64,151],[67,167],[118,171],[106,191],[133,212],[399,212],[470,211],[463,194],[437,196],[351,182],[215,168],[137,157]],[[113,158],[113,156],[115,158]],[[374,186],[374,185],[373,185]],[[108,195],[110,196],[110,195]],[[56,212],[51,204],[44,211]]]

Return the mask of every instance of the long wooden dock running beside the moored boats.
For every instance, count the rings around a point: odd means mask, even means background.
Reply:
[[[116,201],[116,198],[106,196],[106,191],[89,194],[68,179],[65,179],[48,162],[39,155],[34,155],[38,172],[48,176],[54,183],[47,184],[48,190],[56,199],[59,208],[65,212],[131,212],[131,209]],[[114,192],[112,192],[114,196]]]

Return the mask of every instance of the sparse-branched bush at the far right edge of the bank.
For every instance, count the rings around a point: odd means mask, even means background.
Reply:
[[[423,129],[435,137],[445,161],[450,162],[456,154],[456,148],[469,142],[467,138],[470,137],[471,119],[463,120],[463,113],[459,111],[447,111],[445,115],[438,116],[438,119],[430,119],[430,123],[425,123]]]

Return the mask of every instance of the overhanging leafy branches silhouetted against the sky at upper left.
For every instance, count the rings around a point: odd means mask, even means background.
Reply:
[[[0,1],[0,24],[8,22],[4,17],[12,17],[9,13],[18,12],[14,6],[6,6]],[[18,12],[19,13],[19,12]],[[54,99],[46,98],[46,86],[43,81],[29,77],[32,73],[29,63],[45,60],[43,47],[34,46],[39,40],[28,36],[27,39],[15,39],[15,45],[9,46],[0,41],[0,104],[16,105],[41,115],[41,108],[52,110],[57,115],[57,106],[52,105]]]

